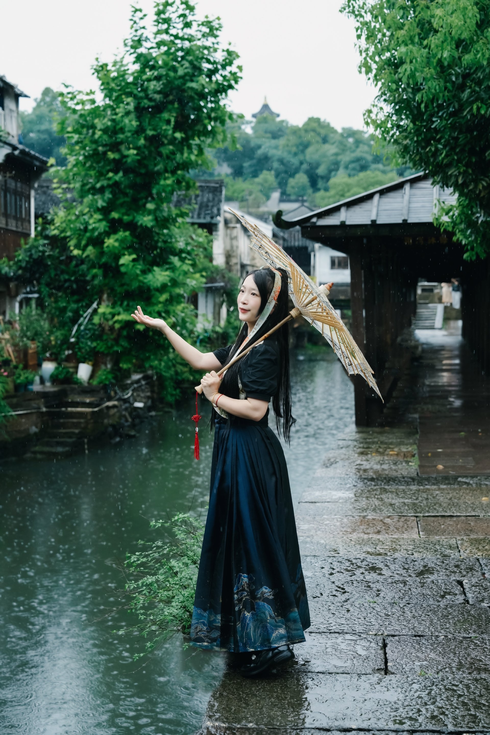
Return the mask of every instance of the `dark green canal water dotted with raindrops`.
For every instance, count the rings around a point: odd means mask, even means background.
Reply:
[[[353,426],[353,387],[331,351],[292,354],[285,448],[295,501],[336,437]],[[192,401],[148,419],[132,440],[54,462],[0,467],[1,735],[192,735],[223,656],[179,637],[134,661],[136,622],[118,606],[117,559],[151,540],[152,519],[206,513],[212,437],[192,454]],[[207,418],[209,406],[203,406]],[[201,426],[205,424],[201,420]],[[271,422],[272,423],[272,422]]]

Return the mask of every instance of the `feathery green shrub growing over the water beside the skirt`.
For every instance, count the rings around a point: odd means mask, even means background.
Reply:
[[[140,621],[129,628],[148,638],[139,659],[177,633],[188,635],[194,606],[195,583],[203,542],[203,524],[188,513],[170,521],[156,520],[151,528],[168,528],[173,542],[139,541],[144,551],[126,556],[124,564],[129,597],[127,609]],[[125,628],[120,634],[128,632]]]

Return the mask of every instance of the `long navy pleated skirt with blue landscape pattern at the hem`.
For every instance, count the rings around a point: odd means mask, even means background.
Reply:
[[[191,643],[263,650],[304,641],[309,625],[281,444],[267,417],[218,419]]]

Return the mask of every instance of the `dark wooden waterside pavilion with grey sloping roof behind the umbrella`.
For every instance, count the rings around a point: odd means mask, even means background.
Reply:
[[[464,282],[469,268],[461,245],[433,224],[439,201],[454,196],[417,173],[297,218],[275,215],[277,226],[300,227],[303,237],[348,256],[353,337],[375,371],[385,405],[408,359],[400,337],[415,315],[418,280]],[[354,390],[356,423],[382,423],[379,398],[360,378]]]

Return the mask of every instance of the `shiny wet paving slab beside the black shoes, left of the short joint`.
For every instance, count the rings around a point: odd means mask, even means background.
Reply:
[[[294,646],[301,672],[324,674],[384,673],[383,638],[306,632],[306,643]]]

